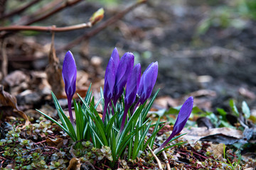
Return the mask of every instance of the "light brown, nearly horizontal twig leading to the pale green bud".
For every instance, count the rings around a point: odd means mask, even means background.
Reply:
[[[81,23],[74,26],[66,26],[66,27],[54,27],[54,26],[6,26],[0,27],[0,31],[2,30],[37,30],[37,31],[47,31],[47,32],[64,32],[70,30],[78,30],[82,28],[91,28],[92,23]]]

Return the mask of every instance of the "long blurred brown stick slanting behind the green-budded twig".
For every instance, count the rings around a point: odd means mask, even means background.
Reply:
[[[137,6],[139,6],[141,4],[144,4],[145,2],[146,2],[146,0],[137,1],[136,4],[133,4],[132,6],[129,6],[128,8],[124,9],[124,11],[121,11],[121,12],[117,13],[117,15],[112,16],[111,18],[109,18],[107,21],[105,21],[100,26],[95,28],[95,30],[92,30],[88,33],[85,33],[80,38],[77,38],[77,39],[73,40],[68,45],[65,45],[64,47],[61,47],[57,51],[70,49],[71,47],[74,47],[75,45],[78,45],[80,42],[82,42],[82,40],[85,40],[87,38],[90,38],[90,37],[96,35],[97,33],[100,33],[101,30],[103,30],[103,29],[107,28],[107,26],[110,26],[111,24],[115,23],[116,21],[118,21],[119,19],[124,17],[127,13],[129,13],[129,11],[132,11],[134,8],[137,8]]]

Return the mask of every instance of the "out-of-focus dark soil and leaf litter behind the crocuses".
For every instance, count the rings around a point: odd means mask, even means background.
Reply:
[[[206,111],[229,107],[230,98],[235,98],[237,103],[247,101],[252,112],[256,109],[255,0],[149,0],[143,3],[41,0],[22,12],[3,17],[31,1],[1,0],[1,27],[73,26],[87,23],[97,9],[104,8],[104,18],[92,28],[55,33],[55,54],[60,65],[68,50],[75,56],[81,71],[78,90],[86,90],[91,82],[97,84],[97,88],[103,86],[105,67],[112,50],[117,47],[120,57],[124,52],[133,52],[135,62],[142,64],[142,70],[151,62],[159,62],[159,76],[154,88],[154,91],[161,89],[159,105],[176,106],[179,100],[192,95],[196,97],[196,105]],[[29,23],[63,4],[68,5],[41,21]],[[124,17],[96,31],[134,4],[138,5]],[[38,101],[32,108],[42,98],[47,101],[47,97],[42,97],[42,91],[50,91],[50,86],[37,88],[38,84],[47,84],[43,79],[46,79],[45,70],[49,64],[52,33],[1,30],[0,35],[1,84],[17,97],[18,105],[29,105],[36,96]],[[70,45],[82,36],[82,40]],[[8,58],[7,66],[3,64],[6,63],[4,57]],[[17,73],[17,70],[21,72]],[[30,83],[24,84],[25,81]]]

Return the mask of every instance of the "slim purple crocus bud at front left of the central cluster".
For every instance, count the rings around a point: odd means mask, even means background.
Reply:
[[[113,90],[114,90],[114,79],[115,79],[115,74],[114,74],[114,60],[112,57],[110,57],[110,61],[107,64],[107,69],[105,72],[105,84],[104,84],[104,89],[103,89],[103,95],[104,95],[104,110],[102,113],[102,121],[104,122],[106,112],[107,112],[107,106],[111,101],[111,98],[113,96]]]

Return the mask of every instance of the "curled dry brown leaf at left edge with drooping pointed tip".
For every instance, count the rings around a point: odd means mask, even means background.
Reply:
[[[18,109],[16,98],[4,91],[4,86],[0,86],[0,113],[3,114],[2,118],[17,115],[21,116],[21,118],[26,120],[23,128],[29,124],[27,115]]]

